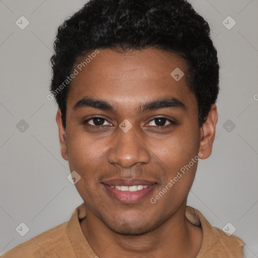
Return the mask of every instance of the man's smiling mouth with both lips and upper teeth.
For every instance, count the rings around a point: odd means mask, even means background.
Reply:
[[[156,182],[142,179],[111,179],[102,182],[108,195],[123,204],[135,204],[147,196],[157,186]]]

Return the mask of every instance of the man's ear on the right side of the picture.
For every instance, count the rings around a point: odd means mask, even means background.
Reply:
[[[201,130],[200,159],[207,159],[212,153],[212,146],[215,139],[216,124],[218,121],[217,106],[212,104],[208,117]]]

